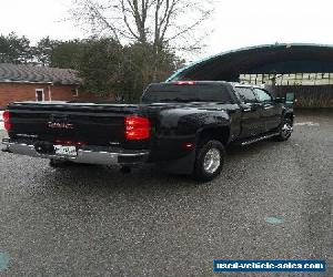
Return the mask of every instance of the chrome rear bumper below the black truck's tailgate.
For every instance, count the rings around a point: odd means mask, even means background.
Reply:
[[[46,154],[37,152],[36,147],[31,143],[14,142],[9,138],[3,138],[2,144],[6,145],[4,152],[27,155],[41,158],[54,158],[62,161],[71,161],[74,163],[83,164],[140,164],[144,163],[149,158],[149,151],[135,151],[135,150],[122,150],[110,148],[102,146],[82,146],[78,148],[75,156],[63,156],[57,154]]]

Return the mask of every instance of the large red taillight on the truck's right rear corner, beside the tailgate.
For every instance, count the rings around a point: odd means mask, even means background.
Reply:
[[[147,140],[150,136],[150,122],[147,117],[127,116],[124,120],[124,125],[127,140]]]

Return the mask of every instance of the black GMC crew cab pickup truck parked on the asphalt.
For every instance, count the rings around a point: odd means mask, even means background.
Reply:
[[[179,81],[149,85],[139,104],[16,102],[3,121],[4,151],[49,158],[54,167],[155,163],[209,181],[229,144],[287,140],[293,110],[258,86]]]

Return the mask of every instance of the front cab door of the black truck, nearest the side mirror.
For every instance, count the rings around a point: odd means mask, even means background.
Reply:
[[[263,89],[254,89],[254,93],[259,103],[262,104],[261,122],[264,126],[264,132],[276,129],[281,123],[282,105],[276,103],[273,96]]]

